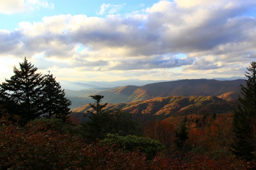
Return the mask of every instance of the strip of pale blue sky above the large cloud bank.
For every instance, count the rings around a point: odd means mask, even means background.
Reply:
[[[28,21],[28,22],[41,22],[42,18],[45,16],[54,16],[54,15],[86,15],[87,17],[101,17],[104,18],[108,15],[109,7],[105,13],[97,14],[100,12],[100,6],[102,4],[111,4],[111,5],[122,5],[115,13],[125,14],[131,13],[133,11],[140,11],[142,9],[146,9],[147,7],[151,7],[154,3],[157,3],[157,0],[142,0],[142,1],[126,1],[126,0],[112,0],[112,1],[104,1],[104,0],[96,0],[96,1],[88,1],[88,0],[51,0],[47,1],[49,7],[38,6],[35,5],[33,10],[23,11],[22,13],[12,13],[5,14],[0,13],[0,29],[15,29],[19,27],[19,22]],[[25,1],[26,3],[26,1]],[[53,8],[51,6],[53,4]],[[33,5],[34,6],[34,5]],[[38,6],[38,8],[36,7]],[[113,8],[113,7],[112,7]]]

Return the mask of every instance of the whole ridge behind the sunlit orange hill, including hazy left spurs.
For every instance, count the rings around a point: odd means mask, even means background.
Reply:
[[[73,97],[82,99],[80,104],[92,103],[93,100],[90,95],[102,95],[102,103],[129,103],[133,101],[150,100],[156,97],[168,96],[218,96],[223,100],[235,100],[240,93],[240,84],[246,85],[243,79],[232,81],[218,81],[214,79],[186,79],[170,82],[152,83],[143,86],[128,85],[119,88],[114,88],[108,91],[99,91],[96,93],[82,94],[80,97]],[[89,92],[89,91],[84,91]],[[94,91],[90,91],[94,92]],[[88,97],[86,97],[86,95]],[[73,99],[68,97],[72,103]],[[76,101],[77,102],[77,101]],[[83,105],[84,105],[83,104]],[[76,103],[76,106],[78,104]],[[80,105],[82,106],[82,105]],[[71,108],[75,108],[72,106]]]

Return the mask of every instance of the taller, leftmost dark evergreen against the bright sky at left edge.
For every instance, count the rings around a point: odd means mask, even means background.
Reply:
[[[14,101],[20,105],[21,122],[33,120],[39,116],[41,82],[43,80],[41,73],[36,73],[37,68],[34,67],[26,57],[23,63],[20,63],[20,69],[15,66],[13,68],[14,75],[11,79],[5,79],[0,85],[2,93],[6,99]]]

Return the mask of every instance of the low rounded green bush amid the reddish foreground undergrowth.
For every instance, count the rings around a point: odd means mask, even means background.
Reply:
[[[148,159],[155,158],[156,153],[165,149],[164,144],[157,140],[133,135],[122,137],[118,134],[108,134],[107,138],[103,139],[101,143],[106,146],[117,144],[120,149],[122,148],[127,151],[138,149],[141,152],[144,152],[148,156]]]

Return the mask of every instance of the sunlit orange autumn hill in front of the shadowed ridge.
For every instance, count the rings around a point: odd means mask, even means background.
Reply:
[[[170,96],[157,97],[145,101],[134,101],[130,103],[108,104],[106,109],[118,108],[132,114],[143,115],[189,115],[189,114],[213,114],[232,112],[236,107],[237,100],[226,101],[215,96]],[[73,112],[91,110],[87,104],[75,109]]]

